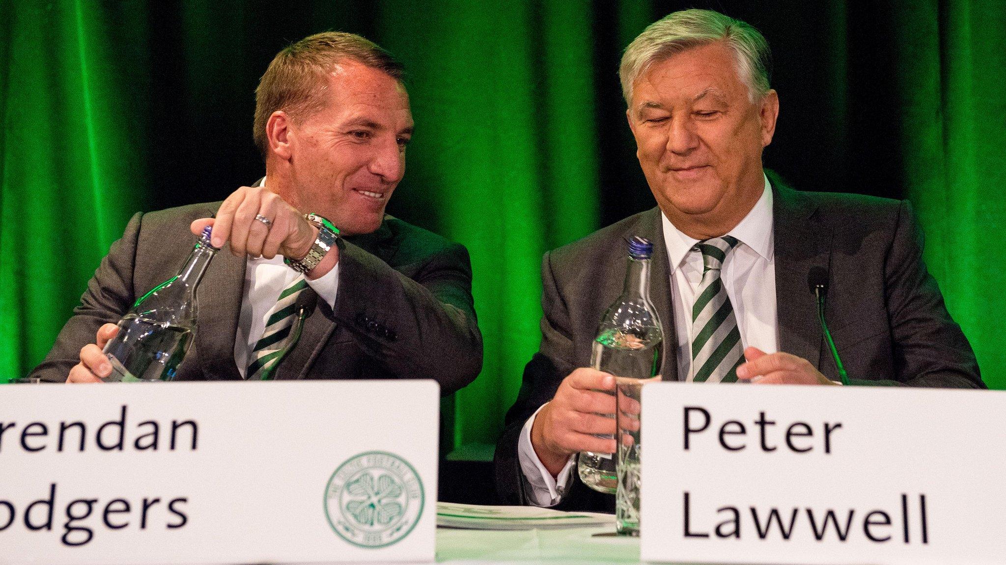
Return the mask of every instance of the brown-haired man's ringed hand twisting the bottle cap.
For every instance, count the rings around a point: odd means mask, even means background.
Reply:
[[[267,225],[256,219],[257,215],[271,223]],[[297,208],[263,186],[242,186],[235,190],[220,205],[216,218],[192,222],[192,233],[202,233],[207,225],[213,226],[210,243],[220,247],[229,241],[230,252],[238,257],[248,254],[271,259],[283,255],[300,260],[318,236],[318,228],[304,219]]]

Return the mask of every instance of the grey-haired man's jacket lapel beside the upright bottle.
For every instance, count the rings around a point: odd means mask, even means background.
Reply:
[[[674,328],[674,311],[671,307],[671,270],[667,258],[667,244],[664,241],[664,225],[660,218],[660,208],[653,208],[644,214],[636,229],[653,242],[653,258],[650,260],[650,302],[657,309],[660,325],[664,331],[660,374],[662,380],[678,380],[677,332]],[[630,233],[627,235],[635,235]]]

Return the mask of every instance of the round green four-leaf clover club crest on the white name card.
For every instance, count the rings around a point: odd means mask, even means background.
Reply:
[[[386,547],[408,535],[423,514],[423,481],[405,459],[367,451],[339,465],[325,489],[325,517],[347,542]]]

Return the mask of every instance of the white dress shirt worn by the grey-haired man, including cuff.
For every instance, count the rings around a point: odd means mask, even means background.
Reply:
[[[692,319],[689,313],[702,281],[702,252],[698,239],[688,237],[660,214],[664,227],[664,243],[670,267],[671,304],[674,310],[675,346],[678,375],[691,381]],[[765,179],[765,190],[754,207],[727,235],[739,243],[726,255],[720,278],[730,299],[737,319],[743,347],[757,347],[766,353],[779,350],[779,325],[776,309],[776,257],[773,238],[772,185]],[[666,316],[665,313],[658,313]],[[666,324],[666,318],[665,318]],[[538,408],[540,410],[541,408]],[[528,418],[521,429],[517,443],[520,468],[530,491],[527,493],[535,506],[555,506],[569,482],[575,462],[575,453],[553,479],[541,463],[531,444],[531,426],[537,411]]]

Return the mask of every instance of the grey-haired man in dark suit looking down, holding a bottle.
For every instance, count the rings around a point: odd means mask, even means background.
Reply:
[[[672,13],[626,49],[626,116],[658,206],[545,254],[540,350],[496,450],[503,502],[614,509],[575,455],[615,451],[614,377],[588,367],[633,235],[654,246],[664,380],[838,384],[810,279],[827,286],[849,384],[984,386],[907,202],[798,192],[763,169],[779,116],[770,68],[758,30],[708,10]]]

